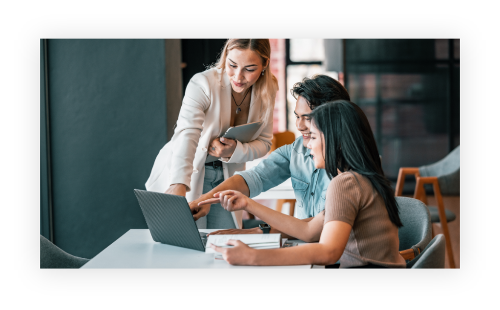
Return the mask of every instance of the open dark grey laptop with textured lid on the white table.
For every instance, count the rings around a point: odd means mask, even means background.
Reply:
[[[137,189],[133,192],[154,241],[205,251],[206,233],[198,232],[185,197]]]

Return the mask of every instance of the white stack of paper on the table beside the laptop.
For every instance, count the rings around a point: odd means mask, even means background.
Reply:
[[[277,249],[281,247],[281,234],[248,234],[248,235],[208,235],[205,253],[216,253],[210,244],[217,247],[232,248],[229,240],[239,240],[253,249]]]

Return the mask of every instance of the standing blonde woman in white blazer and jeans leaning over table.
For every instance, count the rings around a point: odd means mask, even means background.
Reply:
[[[174,135],[146,182],[148,191],[193,201],[269,151],[278,89],[269,57],[269,39],[227,39],[217,62],[191,78]],[[248,143],[218,138],[231,126],[256,121],[261,126]],[[198,210],[192,212],[200,229],[242,228],[241,211],[228,212],[220,204]]]

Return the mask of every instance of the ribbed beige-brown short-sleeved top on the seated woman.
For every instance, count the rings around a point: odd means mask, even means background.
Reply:
[[[340,257],[340,268],[368,263],[406,268],[399,255],[397,227],[392,224],[382,197],[364,176],[346,171],[334,177],[326,191],[324,223],[342,221],[352,226]]]

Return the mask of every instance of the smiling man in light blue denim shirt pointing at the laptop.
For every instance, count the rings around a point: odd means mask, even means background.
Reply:
[[[307,115],[316,106],[337,100],[350,101],[345,88],[335,79],[326,75],[315,75],[311,79],[304,78],[302,82],[293,85],[291,90],[297,102],[295,105],[295,125],[302,136],[292,144],[284,145],[269,157],[262,160],[250,170],[236,172],[210,192],[201,195],[189,203],[194,220],[205,216],[210,211],[210,205],[198,206],[206,199],[213,198],[213,194],[224,190],[236,190],[253,198],[267,191],[291,177],[295,193],[295,208],[297,216],[303,221],[310,221],[312,217],[324,210],[325,194],[330,179],[324,169],[315,169],[314,162],[306,147],[309,142],[309,120]],[[259,228],[246,230],[228,230],[227,233],[261,233]],[[271,227],[271,233],[280,233]],[[289,238],[281,233],[283,238]]]

